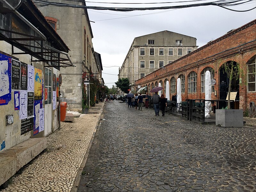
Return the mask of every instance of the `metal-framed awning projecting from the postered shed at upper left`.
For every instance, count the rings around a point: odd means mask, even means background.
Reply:
[[[50,45],[46,44],[46,37],[31,24],[23,15],[21,15],[12,5],[8,4],[5,0],[0,0],[4,3],[6,9],[9,9],[10,14],[15,14],[21,21],[23,21],[28,28],[35,31],[35,35],[24,33],[22,30],[19,32],[10,28],[0,28],[0,40],[6,41],[12,45],[12,55],[31,55],[31,61],[44,61],[51,62],[52,67],[75,67],[70,60],[68,53],[60,51]],[[12,26],[12,25],[11,25]],[[35,42],[35,43],[31,43]],[[35,46],[35,44],[37,46]],[[21,52],[14,52],[14,47],[17,47]],[[63,63],[68,61],[68,63]],[[48,67],[50,67],[48,66]]]

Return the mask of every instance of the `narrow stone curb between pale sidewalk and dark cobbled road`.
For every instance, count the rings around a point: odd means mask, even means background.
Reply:
[[[85,166],[85,164],[86,164],[86,162],[87,162],[87,159],[88,159],[88,156],[89,156],[89,152],[90,152],[90,149],[91,149],[91,147],[92,147],[93,140],[94,140],[95,133],[96,133],[96,131],[97,131],[97,128],[98,128],[99,125],[100,125],[100,124],[99,124],[99,122],[100,122],[100,117],[102,116],[104,106],[105,106],[105,102],[104,102],[103,108],[102,108],[102,110],[101,110],[100,116],[99,116],[99,118],[98,118],[98,122],[97,122],[97,124],[96,124],[96,126],[95,126],[95,128],[94,128],[94,130],[93,130],[92,138],[91,138],[91,140],[90,140],[90,143],[89,143],[88,148],[87,148],[87,150],[86,150],[86,153],[85,153],[85,155],[84,155],[84,160],[83,160],[82,164],[80,165],[80,167],[79,167],[79,169],[78,169],[78,172],[77,172],[77,175],[76,175],[76,179],[75,179],[75,181],[74,181],[74,184],[73,184],[73,187],[72,187],[72,189],[71,189],[71,192],[77,192],[77,190],[78,190],[78,186],[79,186],[80,181],[81,181],[81,178],[82,178],[82,172],[83,172],[84,166]]]

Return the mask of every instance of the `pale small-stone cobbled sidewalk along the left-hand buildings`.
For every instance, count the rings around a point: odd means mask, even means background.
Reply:
[[[74,122],[61,122],[61,129],[47,137],[47,151],[23,167],[1,192],[71,191],[84,155],[95,131],[104,103]]]

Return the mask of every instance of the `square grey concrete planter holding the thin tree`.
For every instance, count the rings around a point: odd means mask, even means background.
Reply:
[[[221,127],[243,127],[243,109],[217,109],[216,125]]]

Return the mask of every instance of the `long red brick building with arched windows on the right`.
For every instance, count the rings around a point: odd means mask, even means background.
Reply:
[[[170,98],[176,92],[177,79],[181,79],[182,100],[204,99],[204,75],[211,72],[216,84],[212,86],[212,99],[226,99],[228,92],[228,77],[223,71],[225,62],[235,61],[243,69],[237,80],[232,80],[231,88],[237,91],[239,108],[246,109],[250,101],[256,101],[256,20],[228,32],[216,40],[197,50],[173,61],[155,72],[135,82],[134,88],[152,85],[160,82],[166,92],[166,81],[170,83]]]

